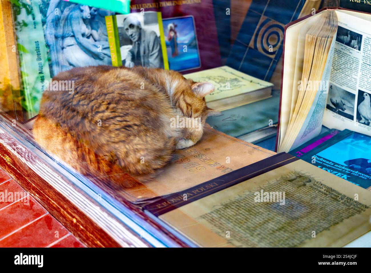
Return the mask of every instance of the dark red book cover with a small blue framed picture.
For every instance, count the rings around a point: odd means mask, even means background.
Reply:
[[[130,9],[161,12],[170,69],[187,74],[221,66],[212,0],[132,0]],[[175,50],[170,26],[177,35]]]

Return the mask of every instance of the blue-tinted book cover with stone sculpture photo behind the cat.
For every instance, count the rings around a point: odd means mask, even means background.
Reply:
[[[74,67],[111,65],[105,16],[114,12],[63,0],[40,1],[52,75]]]

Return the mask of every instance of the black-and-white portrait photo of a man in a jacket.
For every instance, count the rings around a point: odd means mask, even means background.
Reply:
[[[122,65],[163,68],[157,13],[117,15]]]

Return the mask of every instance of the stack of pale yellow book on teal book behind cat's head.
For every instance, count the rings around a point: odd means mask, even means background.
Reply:
[[[193,81],[211,82],[215,91],[205,97],[209,108],[221,111],[207,123],[233,137],[257,143],[277,132],[279,95],[272,97],[273,84],[229,66],[185,74]],[[254,114],[252,114],[254,113]]]

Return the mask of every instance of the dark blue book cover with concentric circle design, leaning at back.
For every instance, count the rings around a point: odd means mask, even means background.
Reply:
[[[226,65],[269,81],[283,48],[285,25],[298,19],[305,0],[253,0]]]

